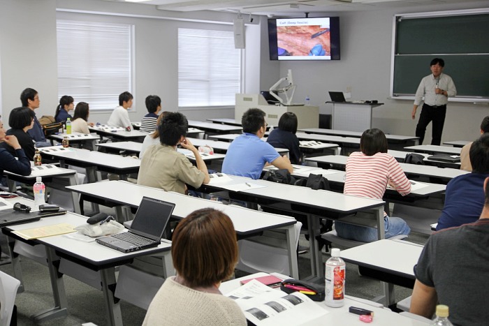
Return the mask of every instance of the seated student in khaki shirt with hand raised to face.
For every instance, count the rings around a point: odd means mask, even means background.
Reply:
[[[160,143],[145,150],[139,168],[138,184],[185,193],[185,184],[198,188],[209,183],[210,177],[204,160],[190,140],[185,138],[188,128],[189,122],[180,112],[170,112],[163,117],[158,126]],[[179,144],[194,153],[197,168],[190,163],[187,156],[175,151]]]

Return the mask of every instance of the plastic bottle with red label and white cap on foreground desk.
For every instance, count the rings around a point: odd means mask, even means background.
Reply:
[[[326,262],[325,290],[326,306],[344,306],[344,276],[346,264],[340,258],[340,249],[331,249],[331,258]]]

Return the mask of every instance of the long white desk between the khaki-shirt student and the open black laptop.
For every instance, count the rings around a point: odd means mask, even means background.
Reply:
[[[196,209],[212,207],[227,214],[239,238],[260,235],[263,230],[283,228],[286,230],[289,270],[295,279],[299,277],[298,260],[295,252],[295,218],[258,212],[234,205],[223,205],[214,200],[190,197],[180,193],[166,192],[162,189],[131,184],[126,181],[98,182],[68,187],[82,195],[84,200],[98,202],[101,205],[126,205],[137,208],[144,196],[175,203],[173,217],[185,218]]]

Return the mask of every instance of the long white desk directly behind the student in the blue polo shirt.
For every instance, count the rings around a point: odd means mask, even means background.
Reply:
[[[333,191],[316,191],[311,188],[301,186],[291,186],[288,184],[277,184],[265,180],[251,180],[245,177],[236,177],[229,175],[231,181],[219,182],[216,184],[203,184],[199,191],[205,193],[219,192],[226,198],[233,200],[244,200],[246,202],[256,202],[260,205],[282,209],[286,212],[295,212],[307,215],[309,227],[309,247],[311,251],[311,270],[313,281],[323,281],[323,262],[321,252],[318,250],[316,237],[317,225],[319,218],[348,220],[349,223],[355,223],[351,219],[352,214],[356,212],[373,212],[374,220],[362,218],[361,223],[372,228],[377,227],[379,239],[384,239],[384,204],[383,200],[370,198],[358,198],[350,195],[343,195]],[[263,188],[244,188],[239,191],[229,190],[229,186],[246,183],[251,185],[257,184]],[[243,186],[244,187],[244,186]],[[349,218],[350,216],[350,218]],[[358,222],[360,223],[360,222]]]

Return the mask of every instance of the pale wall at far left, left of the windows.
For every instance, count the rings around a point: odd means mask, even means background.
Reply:
[[[0,0],[0,78],[2,121],[8,126],[20,93],[36,89],[41,108],[54,114],[58,98],[55,0]]]

